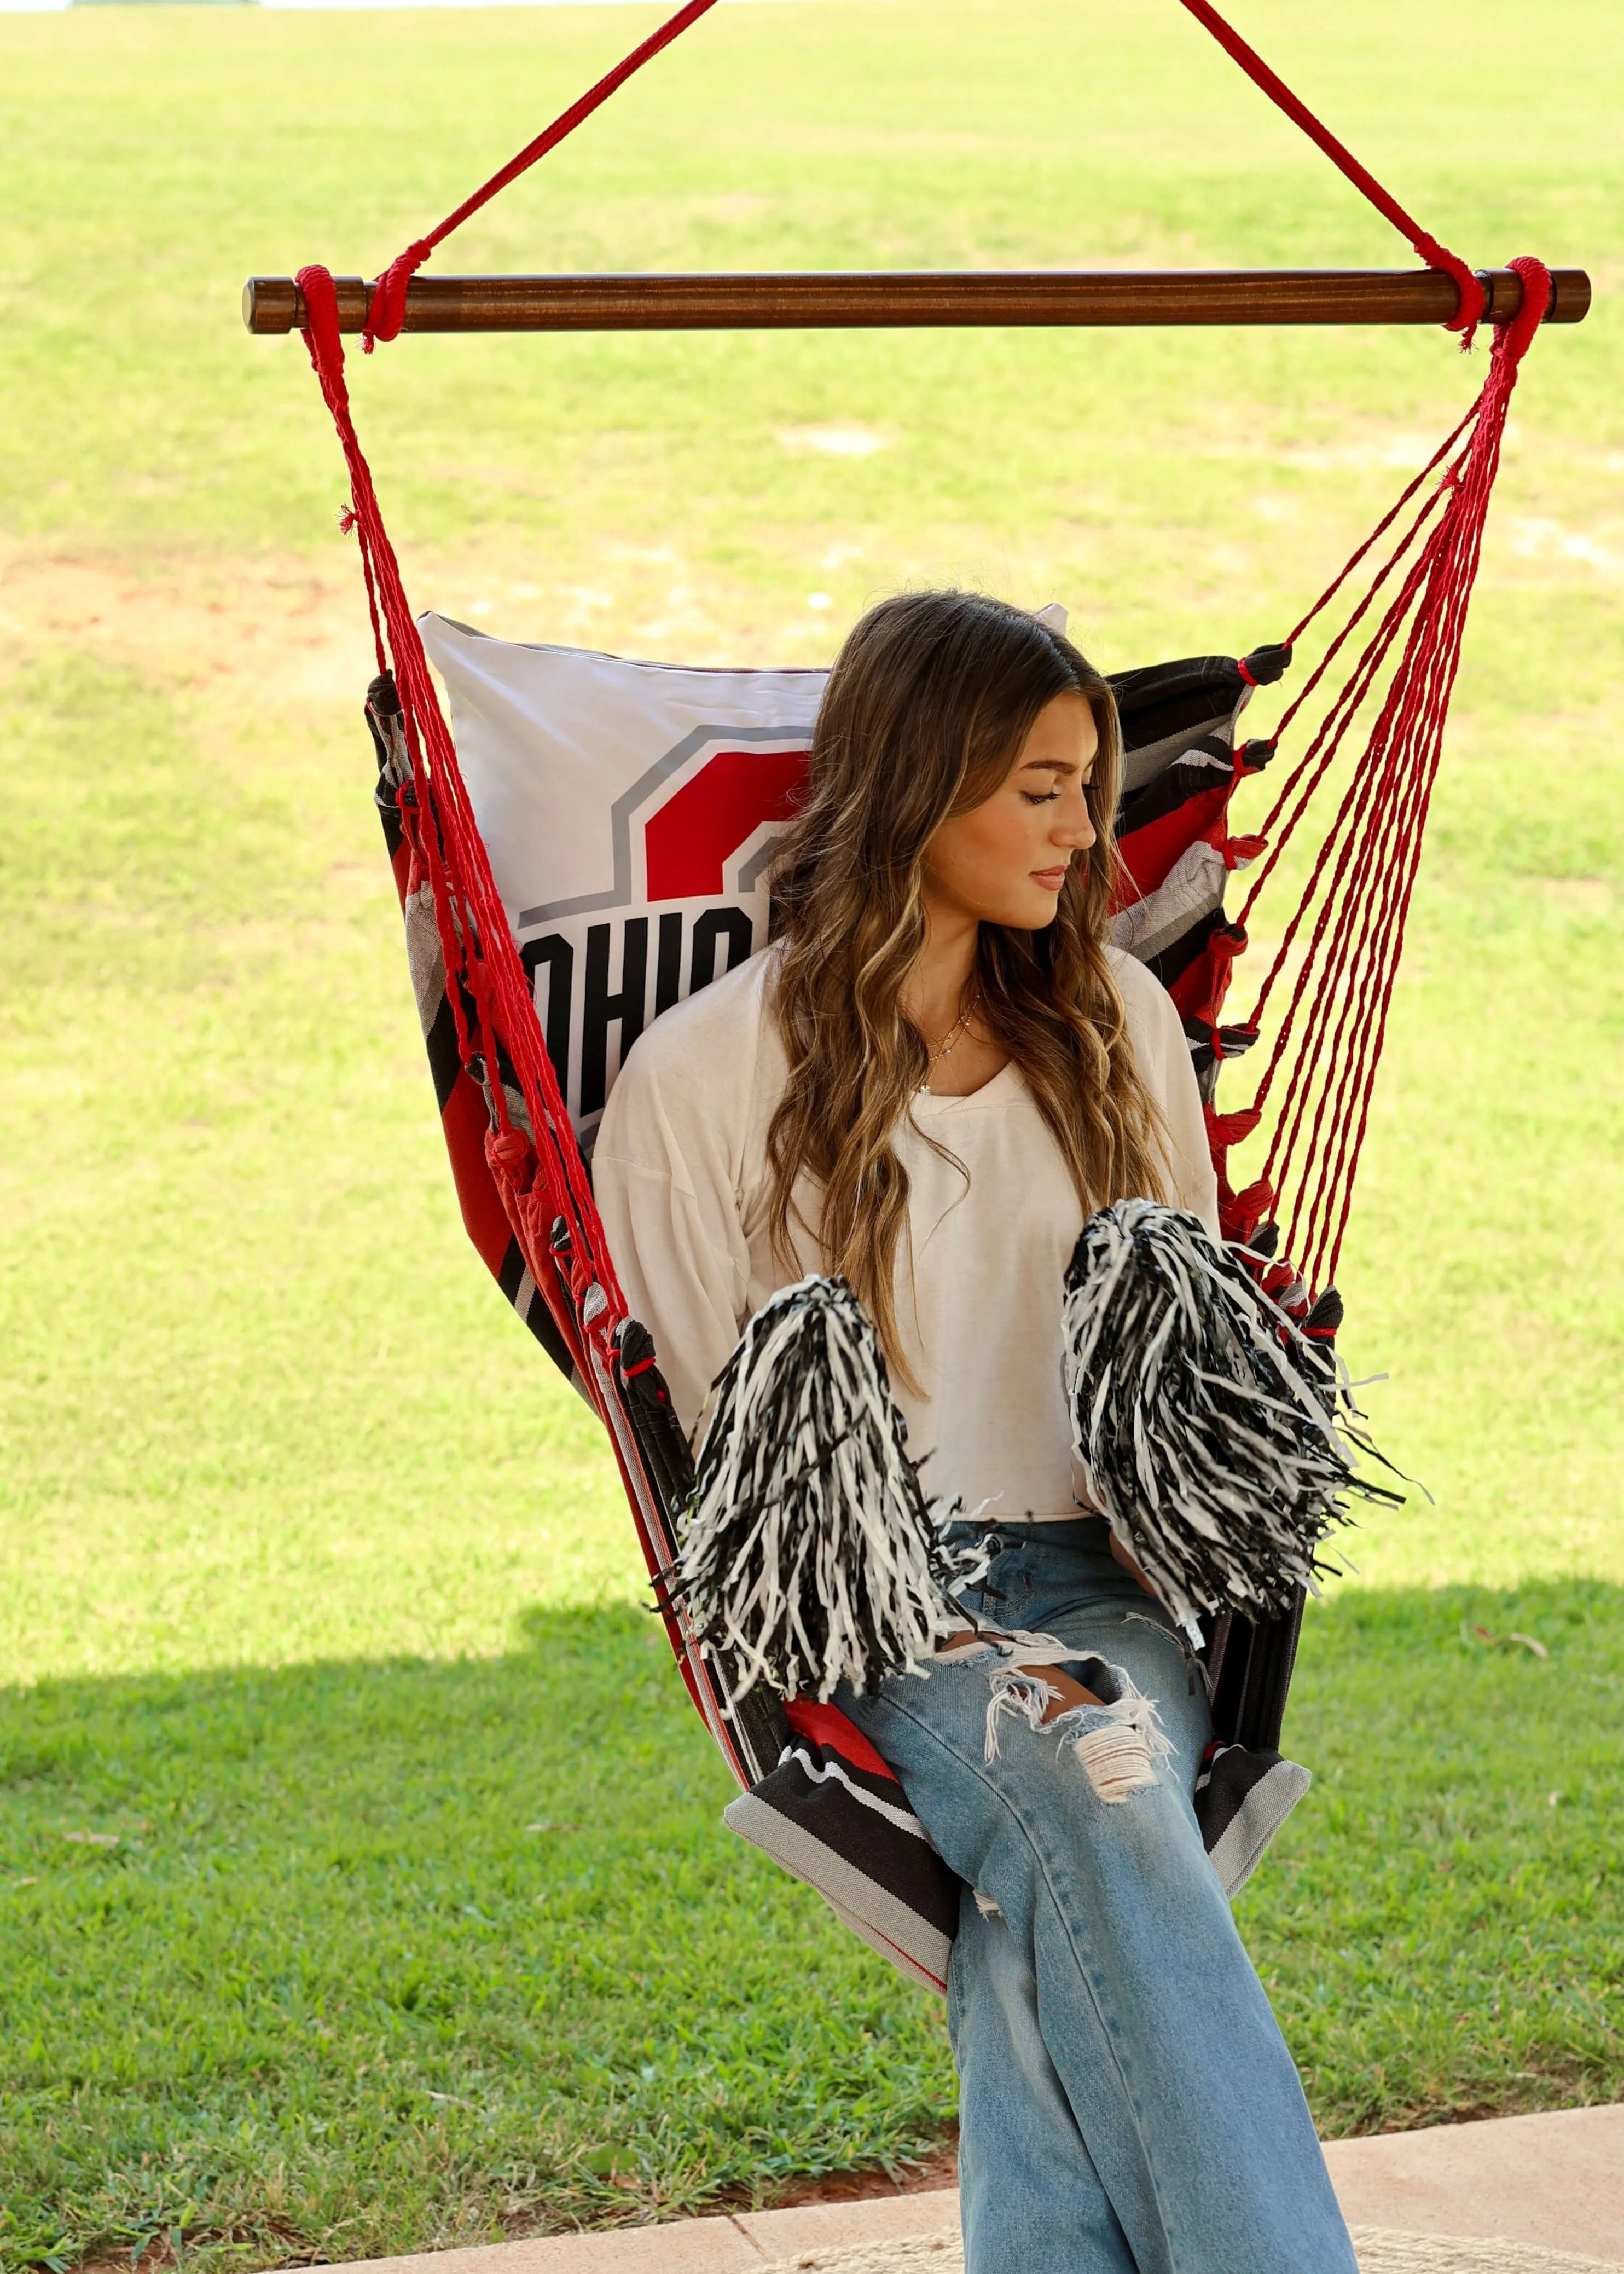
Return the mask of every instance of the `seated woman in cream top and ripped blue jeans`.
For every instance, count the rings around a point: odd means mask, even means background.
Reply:
[[[1126,1671],[1169,1740],[1112,1801],[1060,1742],[1092,1701],[1053,1667],[1060,1733],[994,1726],[987,1653],[839,1696],[964,1881],[969,2274],[1356,2274],[1192,1815],[1203,1690],[1074,1492],[1083,1219],[1137,1194],[1217,1235],[1178,1014],[1105,946],[1117,782],[1110,689],[1060,632],[976,594],[871,609],[828,680],[776,939],[637,1041],[596,1196],[689,1430],[751,1312],[844,1273],[928,1489],[992,1551],[967,1608]]]

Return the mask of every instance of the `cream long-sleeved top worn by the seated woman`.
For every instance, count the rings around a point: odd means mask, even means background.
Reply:
[[[1217,1237],[1190,1046],[1165,989],[1112,955],[1133,1057],[1169,1132],[1169,1187]],[[767,1239],[767,1128],[787,1057],[764,948],[632,1046],[594,1148],[594,1187],[632,1314],[651,1328],[678,1419],[694,1424],[746,1319],[807,1271],[828,1269],[796,1235],[796,1269]],[[962,1162],[942,1160],[923,1135]],[[967,1098],[921,1094],[894,1146],[910,1180],[896,1314],[921,1396],[896,1387],[923,1485],[1012,1524],[1076,1514],[1060,1380],[1062,1276],[1083,1228],[1060,1148],[1019,1067]],[[796,1192],[817,1223],[814,1192]],[[910,1258],[912,1244],[912,1287]]]

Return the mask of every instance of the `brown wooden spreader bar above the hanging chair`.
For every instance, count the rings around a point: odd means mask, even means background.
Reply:
[[[1478,271],[1485,321],[1522,307],[1513,268]],[[337,277],[339,330],[366,330],[373,284]],[[407,332],[773,332],[878,325],[1449,323],[1456,284],[1437,268],[1035,268],[828,275],[441,277],[407,287]],[[1583,268],[1551,271],[1547,323],[1581,323]],[[305,327],[293,277],[243,284],[250,332]]]

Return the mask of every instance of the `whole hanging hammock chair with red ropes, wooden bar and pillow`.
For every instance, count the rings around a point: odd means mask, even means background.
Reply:
[[[912,1978],[944,1987],[960,1887],[901,1785],[835,1708],[762,1690],[728,1708],[666,1574],[694,1483],[648,1330],[628,1314],[587,1160],[641,1028],[767,941],[773,830],[801,789],[823,673],[682,671],[519,648],[414,621],[350,416],[343,332],[898,323],[1444,323],[1494,327],[1483,389],[1283,641],[1112,680],[1126,766],[1117,944],[1169,989],[1208,1105],[1226,1242],[1265,1294],[1328,1342],[1376,1062],[1392,1003],[1444,716],[1460,662],[1506,407],[1540,323],[1576,323],[1583,271],[1469,271],[1428,236],[1205,0],[1180,0],[1399,227],[1422,271],[1210,275],[421,277],[462,221],[553,150],[710,11],[689,0],[375,282],[255,277],[255,332],[305,332],[350,475],[378,648],[368,723],[423,1039],[464,1223],[548,1355],[610,1430],[657,1608],[741,1794],[728,1821],[814,1885]],[[1321,653],[1267,739],[1242,739],[1310,625]],[[430,664],[450,689],[453,732]],[[1301,723],[1299,723],[1301,721]],[[1342,764],[1337,764],[1342,760]],[[1231,835],[1235,789],[1278,789]],[[1324,796],[1321,796],[1324,791]],[[1328,810],[1326,810],[1328,807]],[[1308,882],[1249,1010],[1231,987],[1249,921],[1315,816]],[[1237,907],[1233,873],[1246,873]],[[1276,894],[1278,898],[1278,894]],[[1271,903],[1274,905],[1274,903]],[[1226,1064],[1260,1062],[1244,1103]],[[1265,1157],[1235,1189],[1228,1155]],[[1308,1783],[1278,1753],[1301,1596],[1212,1621],[1215,1744],[1196,1812],[1228,1890]]]

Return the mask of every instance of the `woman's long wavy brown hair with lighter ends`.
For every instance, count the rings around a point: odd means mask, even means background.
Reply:
[[[1080,694],[1099,728],[1094,846],[1074,862],[1046,930],[980,926],[978,1023],[1026,1076],[1085,1217],[1126,1194],[1165,1198],[1162,1119],[1135,1071],[1101,946],[1121,730],[1108,682],[1062,632],[969,591],[869,609],[830,671],[807,796],[773,864],[789,1080],[767,1135],[769,1235],[794,1264],[794,1189],[810,1178],[821,1217],[807,1230],[826,1269],[851,1280],[912,1389],[894,1296],[908,1171],[892,1137],[930,1064],[901,1007],[926,941],[921,860],[942,821],[1003,785],[1037,714],[1062,694]]]

